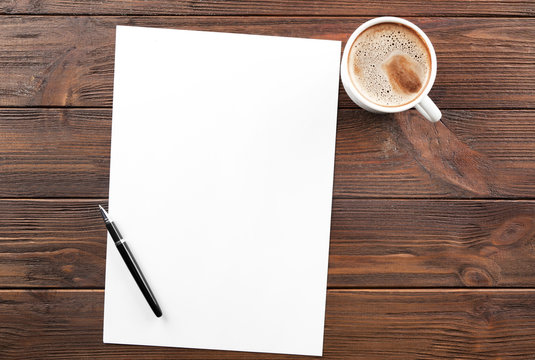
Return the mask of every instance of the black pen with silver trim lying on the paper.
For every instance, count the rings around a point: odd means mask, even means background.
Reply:
[[[136,280],[137,286],[139,286],[139,289],[141,290],[143,296],[149,303],[150,308],[152,309],[152,311],[154,311],[154,315],[156,315],[157,317],[162,316],[162,310],[160,309],[160,306],[158,305],[154,294],[150,290],[147,280],[145,280],[143,273],[139,269],[136,260],[132,256],[128,245],[126,245],[126,243],[124,242],[123,237],[119,232],[119,229],[117,229],[115,223],[110,220],[106,210],[104,210],[104,208],[100,205],[98,207],[100,209],[100,213],[102,214],[102,218],[106,223],[106,228],[108,229],[108,232],[110,233],[113,241],[115,242],[115,246],[117,246],[117,250],[119,250],[119,253],[121,254],[124,262],[126,263],[128,270],[130,270],[130,274],[132,274],[132,276]]]

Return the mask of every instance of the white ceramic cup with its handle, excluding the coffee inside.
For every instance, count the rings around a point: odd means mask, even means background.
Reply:
[[[431,74],[429,76],[429,81],[425,85],[424,90],[418,95],[414,100],[411,102],[401,105],[401,106],[381,106],[378,104],[375,104],[368,99],[366,99],[364,96],[362,96],[353,82],[351,81],[351,76],[349,74],[349,67],[348,67],[348,60],[349,60],[349,53],[351,48],[353,47],[353,44],[355,43],[355,40],[357,37],[367,28],[377,25],[380,23],[397,23],[405,25],[414,31],[418,33],[420,38],[422,38],[425,41],[425,44],[427,45],[427,48],[429,49],[429,54],[431,55]],[[346,47],[344,49],[344,55],[342,57],[342,65],[340,68],[340,74],[342,77],[342,84],[344,85],[344,89],[346,90],[347,94],[353,100],[358,106],[361,108],[375,112],[375,113],[396,113],[400,111],[405,111],[411,108],[415,108],[418,110],[427,120],[431,122],[437,122],[442,117],[442,113],[438,109],[438,107],[435,105],[435,103],[427,96],[429,94],[429,91],[433,87],[433,84],[435,82],[435,77],[437,76],[437,55],[435,54],[435,49],[433,48],[433,44],[431,44],[431,41],[425,35],[425,33],[416,25],[411,23],[410,21],[407,21],[405,19],[392,17],[392,16],[384,16],[379,17],[375,19],[371,19],[369,21],[366,21],[364,24],[360,25],[357,30],[351,35],[349,40],[346,43]]]

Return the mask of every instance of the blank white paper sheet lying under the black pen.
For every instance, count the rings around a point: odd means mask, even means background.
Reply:
[[[117,27],[104,342],[322,354],[340,46]]]

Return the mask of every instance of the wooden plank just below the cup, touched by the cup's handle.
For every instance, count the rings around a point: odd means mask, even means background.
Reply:
[[[108,196],[111,110],[0,109],[0,197]],[[533,111],[339,110],[335,197],[533,198]]]

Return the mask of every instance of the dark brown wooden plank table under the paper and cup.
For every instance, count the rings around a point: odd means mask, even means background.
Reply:
[[[533,1],[1,0],[0,13],[0,358],[298,358],[102,343],[115,26],[345,41],[379,15],[431,38],[444,117],[372,115],[340,91],[324,356],[535,358]]]

